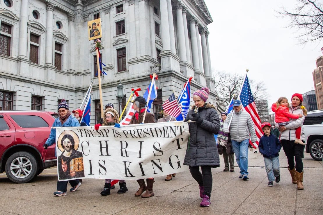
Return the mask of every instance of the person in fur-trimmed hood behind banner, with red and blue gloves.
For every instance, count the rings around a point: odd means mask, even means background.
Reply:
[[[113,108],[107,108],[103,114],[103,116],[105,116],[103,118],[103,123],[104,125],[114,125],[115,127],[120,128],[120,124],[119,123],[119,114],[118,112],[113,109]],[[101,126],[101,124],[96,124],[94,126],[95,130],[98,131],[99,126]],[[119,186],[120,186],[120,190],[117,191],[117,193],[125,193],[128,191],[128,188],[126,186],[126,181],[124,180],[119,180]],[[113,185],[114,187],[114,185]],[[101,195],[102,196],[107,196],[110,195],[110,190],[113,189],[111,187],[111,179],[106,179],[105,183],[104,183],[104,189],[103,191],[101,191]]]

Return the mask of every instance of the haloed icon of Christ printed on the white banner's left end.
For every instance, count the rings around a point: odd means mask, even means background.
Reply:
[[[57,140],[57,147],[62,154],[58,156],[58,178],[59,180],[84,177],[83,154],[77,151],[79,146],[78,135],[65,130]]]

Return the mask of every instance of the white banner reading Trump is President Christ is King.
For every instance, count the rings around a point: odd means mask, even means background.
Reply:
[[[58,180],[137,180],[185,171],[188,135],[183,121],[100,126],[98,131],[57,127]]]

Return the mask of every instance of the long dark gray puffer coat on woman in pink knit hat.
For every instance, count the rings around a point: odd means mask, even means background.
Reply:
[[[194,108],[188,112],[186,120],[192,118]],[[190,138],[184,165],[219,167],[220,158],[214,138],[220,129],[219,114],[214,105],[209,103],[199,108],[199,114],[203,119],[201,123],[189,122]]]

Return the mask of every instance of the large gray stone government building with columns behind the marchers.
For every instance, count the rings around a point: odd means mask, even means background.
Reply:
[[[101,75],[103,105],[119,110],[121,83],[124,107],[131,88],[142,95],[153,72],[159,77],[156,120],[162,101],[172,90],[179,94],[190,75],[192,93],[207,86],[215,103],[207,31],[213,20],[203,0],[0,0],[0,110],[57,112],[62,98],[73,110],[93,80],[96,123],[101,104],[88,21],[97,18],[107,73]]]

